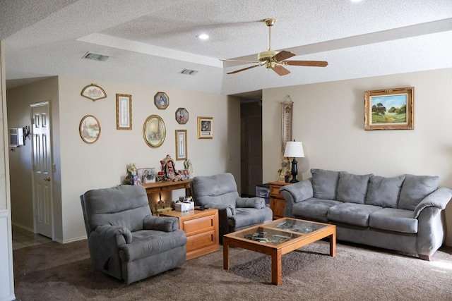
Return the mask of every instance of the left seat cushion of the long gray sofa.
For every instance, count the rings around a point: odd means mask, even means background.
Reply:
[[[331,199],[316,199],[313,197],[293,204],[292,214],[300,219],[314,219],[314,221],[328,222],[326,216],[328,209],[338,204],[342,204],[342,202]]]

